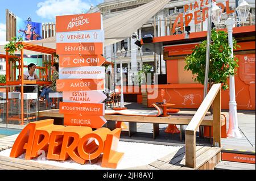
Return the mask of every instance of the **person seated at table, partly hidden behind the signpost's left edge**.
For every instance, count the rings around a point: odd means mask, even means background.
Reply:
[[[49,92],[56,92],[56,80],[59,79],[59,63],[55,62],[52,66],[52,70],[52,84],[44,86],[39,96],[39,101],[42,101],[44,96],[46,96],[46,100],[48,100],[48,103],[50,103],[51,107],[55,107],[55,104],[52,104],[52,100],[49,99]]]

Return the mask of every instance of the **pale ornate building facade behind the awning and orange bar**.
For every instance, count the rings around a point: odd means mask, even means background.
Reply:
[[[96,7],[91,7],[88,13],[101,12],[103,18],[108,19],[122,12],[129,11],[136,7],[142,6],[150,1],[152,0],[105,0],[103,3],[100,3]],[[154,17],[149,19],[147,23],[143,24],[143,26],[139,28],[139,30],[137,30],[138,38],[142,39],[143,36],[148,34],[154,35],[154,37],[159,37],[185,33],[184,30],[180,30],[180,27],[174,27],[174,23],[179,23],[175,22],[175,19],[181,13],[188,14],[189,9],[194,8],[193,6],[195,6],[195,2],[197,2],[200,5],[201,1],[170,1],[162,10],[160,10],[157,14],[155,14]],[[222,2],[228,5],[230,10],[236,9],[236,0],[216,2]],[[251,5],[250,18],[253,20],[253,22],[250,23],[255,24],[255,1],[247,0],[247,2]],[[202,9],[204,7],[206,6],[195,7],[195,10],[200,11],[200,18],[202,17],[201,14],[203,14]],[[185,10],[185,8],[187,8],[188,10]],[[232,14],[232,16],[235,15]],[[223,18],[225,19],[227,17],[224,15]],[[202,23],[195,23],[195,18],[192,18],[191,22],[189,23],[189,26],[191,27],[190,32],[207,31],[207,20],[205,20]],[[173,30],[174,28],[175,30]],[[138,50],[138,46],[134,44],[135,41],[135,39],[129,37],[121,42],[105,47],[106,59],[108,61],[115,62],[115,74],[119,71],[118,68],[120,63],[118,58],[116,58],[115,54],[118,49],[121,50],[122,48],[125,48],[127,51],[126,57],[122,58],[122,65],[124,73],[127,76],[128,85],[134,84],[134,76],[137,75],[138,71],[142,69],[143,64],[154,66],[154,70],[152,69],[152,71],[154,71],[155,74],[166,74],[166,62],[163,60],[163,55],[155,54],[150,49],[143,48],[143,46],[141,48],[140,53]]]

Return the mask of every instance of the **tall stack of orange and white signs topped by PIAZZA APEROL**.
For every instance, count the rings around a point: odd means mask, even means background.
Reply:
[[[100,128],[106,123],[102,117],[104,104],[93,102],[96,99],[90,96],[101,96],[98,91],[105,89],[105,79],[102,77],[102,68],[99,67],[105,62],[105,58],[101,56],[104,40],[102,16],[100,13],[56,16],[56,32],[60,36],[56,52],[60,55],[61,70],[65,70],[59,72],[62,79],[57,80],[57,91],[63,91],[60,113],[64,113],[64,125],[75,124],[71,118],[73,115],[76,120],[81,120],[76,121],[76,125],[89,126],[88,121],[84,120],[90,120],[92,128]],[[86,38],[80,38],[83,36]],[[64,75],[63,72],[69,75]],[[96,76],[97,72],[101,72],[101,76]],[[96,93],[90,94],[89,91]],[[65,97],[74,92],[80,92],[80,100],[87,101],[72,102],[70,97]],[[77,115],[80,116],[79,119]],[[98,123],[94,123],[95,121]]]

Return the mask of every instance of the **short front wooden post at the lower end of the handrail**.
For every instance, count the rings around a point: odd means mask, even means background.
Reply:
[[[196,167],[196,134],[193,131],[185,131],[185,166]]]

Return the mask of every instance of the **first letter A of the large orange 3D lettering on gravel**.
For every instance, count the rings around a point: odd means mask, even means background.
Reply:
[[[53,124],[53,120],[36,121],[23,128],[22,132],[19,133],[19,136],[14,142],[10,157],[16,158],[26,152],[25,159],[31,159],[31,151],[36,128],[45,127],[49,124]]]

